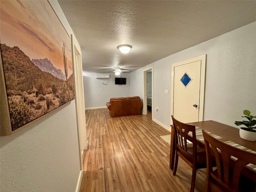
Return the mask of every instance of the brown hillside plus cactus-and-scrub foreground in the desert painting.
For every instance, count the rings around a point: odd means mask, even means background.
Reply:
[[[74,99],[73,75],[62,80],[38,68],[18,46],[0,47],[12,131]]]

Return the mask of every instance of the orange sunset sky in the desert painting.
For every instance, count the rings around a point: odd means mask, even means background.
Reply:
[[[0,6],[0,42],[18,46],[30,60],[48,58],[63,74],[62,47],[72,74],[70,38],[47,0],[2,1]]]

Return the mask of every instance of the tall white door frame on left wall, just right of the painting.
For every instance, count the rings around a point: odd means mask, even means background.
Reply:
[[[81,50],[77,40],[71,34],[72,62],[74,71],[74,88],[76,98],[76,122],[78,132],[78,148],[80,156],[80,170],[83,170],[83,152],[87,149],[86,119],[84,105],[84,83],[82,75]]]

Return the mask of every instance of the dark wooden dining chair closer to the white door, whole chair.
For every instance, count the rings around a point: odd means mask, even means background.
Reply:
[[[193,192],[196,182],[196,170],[206,168],[206,151],[196,144],[195,126],[182,123],[173,116],[172,122],[176,148],[173,175],[176,175],[178,158],[180,157],[192,168],[190,192]],[[190,144],[188,144],[188,141],[190,141]]]

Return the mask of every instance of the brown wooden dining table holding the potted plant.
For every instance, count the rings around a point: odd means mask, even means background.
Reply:
[[[240,146],[244,146],[245,148],[248,148],[254,152],[256,152],[256,142],[255,141],[248,141],[240,138],[239,136],[239,129],[234,128],[232,126],[228,126],[216,121],[200,121],[200,122],[192,122],[187,123],[194,125],[198,128],[201,128],[203,130],[206,130],[208,132],[211,132],[212,134],[215,134],[216,136],[220,136],[220,141],[222,142],[228,142],[232,141],[236,144],[239,144]],[[174,138],[174,127],[172,127],[171,130],[171,146],[170,146],[170,168],[173,170],[174,168],[174,158],[175,158],[175,138]],[[197,143],[201,146],[204,146],[204,140],[198,140]],[[256,182],[256,170],[248,169],[246,170],[246,174],[248,174],[251,178],[251,176],[254,176],[252,180]]]

